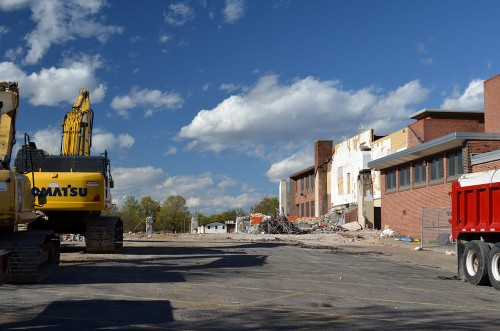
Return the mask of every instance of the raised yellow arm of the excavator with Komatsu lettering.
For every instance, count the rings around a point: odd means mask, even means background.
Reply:
[[[94,112],[90,108],[90,92],[80,90],[80,96],[62,123],[61,155],[90,156]]]

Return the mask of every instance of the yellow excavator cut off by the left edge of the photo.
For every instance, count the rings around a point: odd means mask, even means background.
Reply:
[[[36,283],[59,265],[54,231],[27,230],[40,217],[30,180],[10,169],[18,107],[17,82],[0,82],[0,284]],[[37,203],[45,203],[43,194]]]

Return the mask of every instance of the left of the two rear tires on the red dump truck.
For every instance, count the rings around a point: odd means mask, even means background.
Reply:
[[[490,247],[480,240],[473,240],[465,246],[463,270],[465,280],[473,285],[488,282],[488,255]]]

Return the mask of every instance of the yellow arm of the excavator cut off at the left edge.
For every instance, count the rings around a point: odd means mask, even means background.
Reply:
[[[16,116],[19,87],[16,82],[0,82],[0,169],[9,169],[16,143]]]

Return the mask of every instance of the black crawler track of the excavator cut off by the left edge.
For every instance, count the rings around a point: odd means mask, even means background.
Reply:
[[[4,235],[0,251],[10,252],[6,281],[38,283],[59,265],[60,241],[53,231],[18,231]]]

